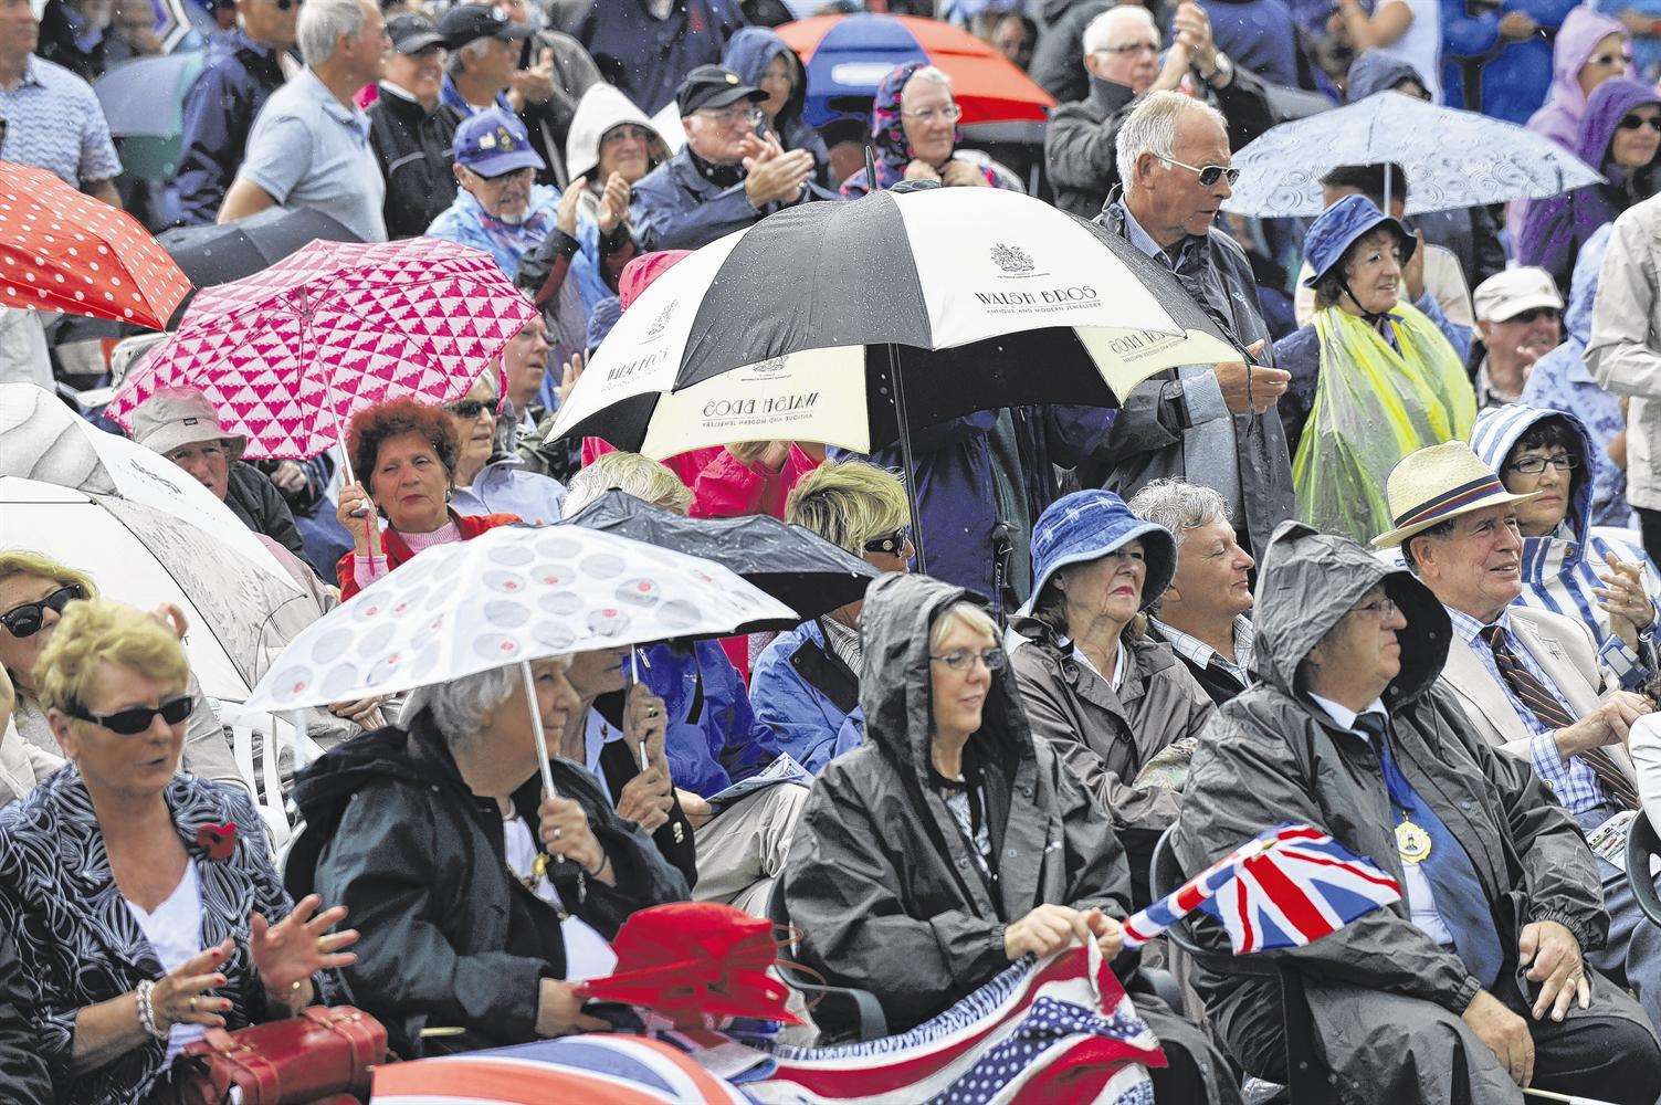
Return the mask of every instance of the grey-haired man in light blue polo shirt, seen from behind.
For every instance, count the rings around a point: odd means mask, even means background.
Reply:
[[[271,206],[316,208],[364,241],[385,241],[387,186],[352,96],[380,80],[390,47],[374,0],[309,0],[296,23],[306,68],[266,101],[247,158],[219,206],[231,223]]]

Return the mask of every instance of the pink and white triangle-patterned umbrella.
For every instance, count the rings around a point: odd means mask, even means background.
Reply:
[[[247,457],[316,457],[372,404],[460,399],[537,314],[490,254],[435,238],[314,241],[204,287],[116,389],[128,427],[158,389],[199,387]]]

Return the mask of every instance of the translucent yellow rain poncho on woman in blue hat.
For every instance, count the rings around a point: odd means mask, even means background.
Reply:
[[[1409,302],[1390,311],[1400,352],[1339,307],[1314,317],[1320,376],[1297,455],[1297,517],[1367,543],[1390,528],[1384,489],[1395,462],[1425,445],[1468,439],[1477,395],[1435,324]]]

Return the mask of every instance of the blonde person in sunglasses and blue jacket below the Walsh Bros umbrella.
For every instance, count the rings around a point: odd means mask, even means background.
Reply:
[[[880,572],[905,572],[915,552],[905,489],[864,460],[829,462],[791,492],[784,520],[801,525]],[[859,744],[859,611],[864,602],[809,618],[776,636],[756,658],[749,698],[779,746],[817,773]]]

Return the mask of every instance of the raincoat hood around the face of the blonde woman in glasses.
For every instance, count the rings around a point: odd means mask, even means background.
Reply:
[[[859,615],[864,653],[859,665],[859,705],[865,739],[889,756],[907,781],[928,784],[928,741],[933,733],[933,695],[928,630],[952,603],[985,600],[927,575],[884,575],[865,592]],[[992,673],[972,744],[985,763],[1013,764],[1033,754],[1031,729],[1015,675],[1008,665]]]

